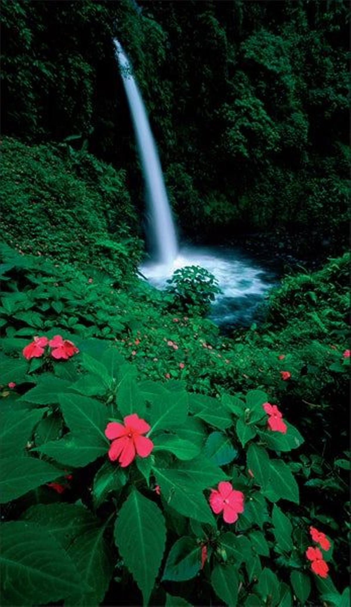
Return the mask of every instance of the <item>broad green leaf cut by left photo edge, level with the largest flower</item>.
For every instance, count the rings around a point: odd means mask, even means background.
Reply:
[[[35,424],[43,417],[43,409],[31,411],[7,410],[1,413],[0,450],[1,456],[14,453],[24,455],[27,441],[32,435]]]

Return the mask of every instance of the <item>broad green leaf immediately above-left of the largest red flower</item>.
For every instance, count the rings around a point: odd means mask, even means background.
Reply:
[[[72,432],[101,437],[101,445],[109,444],[104,435],[108,411],[102,402],[78,394],[60,394],[58,400],[64,421]]]

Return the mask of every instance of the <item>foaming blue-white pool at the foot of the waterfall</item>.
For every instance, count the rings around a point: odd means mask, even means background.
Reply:
[[[278,281],[274,271],[241,251],[215,246],[182,248],[172,265],[146,262],[140,271],[152,285],[164,289],[174,271],[188,265],[199,265],[216,276],[222,293],[216,296],[210,318],[222,327],[251,324],[267,291]]]

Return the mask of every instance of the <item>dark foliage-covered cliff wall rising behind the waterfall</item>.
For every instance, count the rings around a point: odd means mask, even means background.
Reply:
[[[348,6],[342,0],[4,0],[3,133],[86,142],[140,171],[112,35],[129,52],[186,235],[346,242]],[[197,103],[194,103],[197,100]],[[308,238],[305,237],[308,234]]]

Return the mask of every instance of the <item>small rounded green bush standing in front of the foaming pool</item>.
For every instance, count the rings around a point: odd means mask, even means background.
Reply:
[[[216,293],[220,293],[216,278],[200,266],[179,268],[167,282],[167,291],[174,296],[174,307],[191,314],[206,314]]]

